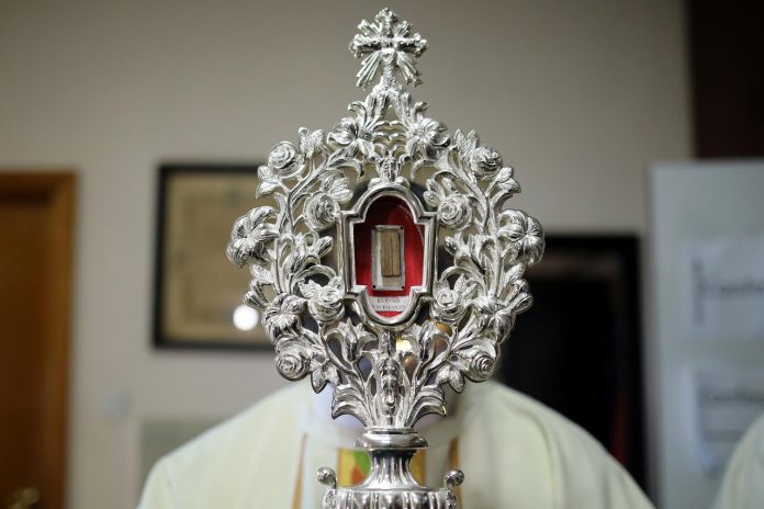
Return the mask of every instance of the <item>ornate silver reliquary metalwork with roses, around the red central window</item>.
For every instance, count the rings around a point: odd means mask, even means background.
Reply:
[[[523,273],[540,259],[543,234],[506,206],[520,188],[498,152],[474,132],[448,134],[406,91],[420,82],[427,42],[389,9],[359,29],[350,49],[363,57],[357,84],[377,80],[371,93],[330,133],[303,127],[296,145],[273,148],[258,170],[258,196],[270,204],[237,219],[227,253],[250,267],[245,302],[263,310],[278,371],[310,376],[315,392],[332,384],[333,416],[367,428],[357,445],[371,473],[338,487],[322,468],[324,508],[454,508],[461,472],[439,489],[412,477],[411,459],[426,446],[413,427],[446,415],[443,386],[462,392],[491,376],[531,304]],[[423,231],[423,279],[394,317],[374,310],[355,274],[353,225],[383,196],[405,203]]]

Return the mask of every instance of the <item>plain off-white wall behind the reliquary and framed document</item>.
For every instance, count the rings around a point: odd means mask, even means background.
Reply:
[[[430,41],[415,91],[517,168],[548,230],[644,224],[644,169],[688,155],[679,0],[403,2]],[[282,385],[269,355],[149,344],[160,160],[258,160],[330,127],[382,7],[358,0],[0,0],[0,167],[79,171],[70,507],[128,508],[147,417],[229,415]],[[221,253],[223,256],[223,253]],[[125,414],[103,411],[126,398]]]

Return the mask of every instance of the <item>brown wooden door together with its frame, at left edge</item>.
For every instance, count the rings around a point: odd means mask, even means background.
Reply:
[[[0,171],[0,507],[65,506],[75,176]]]

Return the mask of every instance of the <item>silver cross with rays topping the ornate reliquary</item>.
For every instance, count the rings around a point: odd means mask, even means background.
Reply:
[[[366,89],[377,77],[382,65],[380,84],[386,89],[398,89],[395,71],[406,83],[422,83],[419,70],[416,68],[416,57],[427,49],[427,39],[419,34],[411,34],[412,25],[407,21],[398,23],[398,18],[390,9],[382,9],[374,16],[374,22],[363,20],[358,29],[361,31],[350,42],[350,52],[356,58],[366,56],[361,61],[361,70],[357,87]]]

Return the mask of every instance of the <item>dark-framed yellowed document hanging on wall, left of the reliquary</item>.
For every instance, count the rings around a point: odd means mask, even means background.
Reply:
[[[243,304],[249,272],[225,253],[237,217],[257,206],[258,165],[159,167],[154,344],[270,348],[257,310]]]

